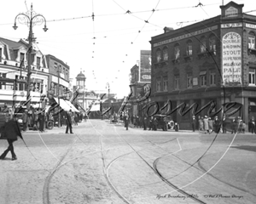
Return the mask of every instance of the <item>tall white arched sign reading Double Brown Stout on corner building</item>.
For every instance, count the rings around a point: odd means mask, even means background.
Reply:
[[[241,36],[226,33],[222,41],[222,77],[224,86],[241,84]]]

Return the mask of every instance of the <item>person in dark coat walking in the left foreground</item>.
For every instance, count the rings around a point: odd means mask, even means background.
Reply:
[[[1,138],[7,139],[9,143],[9,147],[7,148],[7,150],[3,151],[3,154],[0,156],[1,160],[3,160],[5,156],[7,156],[9,151],[11,152],[12,160],[17,159],[13,143],[18,139],[18,136],[23,139],[20,133],[20,127],[19,123],[17,122],[17,118],[14,117],[10,119],[9,122],[5,122],[4,125],[1,127]]]

